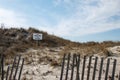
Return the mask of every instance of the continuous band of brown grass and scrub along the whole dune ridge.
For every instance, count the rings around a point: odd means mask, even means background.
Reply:
[[[40,41],[40,46],[36,46],[36,41],[32,39],[33,33],[42,33],[43,40]],[[29,48],[43,47],[60,47],[64,49],[60,53],[80,53],[83,55],[105,54],[108,55],[107,47],[120,45],[120,42],[104,41],[104,42],[87,42],[78,43],[65,40],[55,35],[50,35],[47,32],[39,31],[34,28],[28,30],[20,28],[0,29],[0,53],[4,53],[6,57],[12,57],[19,52],[25,52]]]

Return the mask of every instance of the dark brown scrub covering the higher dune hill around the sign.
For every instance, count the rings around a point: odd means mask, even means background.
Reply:
[[[43,40],[40,41],[40,46],[36,46],[36,41],[32,39],[33,33],[42,33]],[[14,56],[19,52],[25,52],[29,48],[40,47],[57,47],[65,46],[70,43],[69,40],[64,40],[54,35],[49,35],[47,32],[39,31],[34,28],[25,30],[23,28],[0,29],[0,46],[4,48],[1,53],[7,56]]]

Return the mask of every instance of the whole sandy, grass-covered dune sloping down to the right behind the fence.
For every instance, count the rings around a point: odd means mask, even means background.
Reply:
[[[43,34],[43,40],[37,42],[32,39],[33,33]],[[118,80],[119,65],[120,65],[120,42],[104,41],[104,42],[72,42],[63,38],[57,37],[53,34],[48,34],[44,31],[39,31],[34,28],[29,29],[0,29],[0,54],[5,56],[5,72],[7,66],[13,62],[16,55],[21,55],[25,59],[23,66],[21,80],[58,80],[61,74],[61,63],[63,54],[76,53],[81,56],[80,75],[82,74],[83,57],[87,56],[86,64],[89,63],[89,56],[98,57],[98,65],[96,71],[96,80],[99,74],[100,59],[104,57],[103,70],[106,68],[106,62],[109,58],[111,64],[113,60],[117,60],[117,67],[115,73],[115,80]],[[72,61],[70,61],[72,62]],[[92,64],[93,66],[94,64]],[[108,78],[110,78],[112,66],[110,65]],[[70,69],[71,70],[71,69]],[[76,72],[76,71],[75,71]],[[93,68],[91,68],[92,79]],[[68,80],[71,72],[68,73]],[[64,74],[65,76],[65,74]],[[85,71],[85,79],[87,76],[87,66]],[[81,76],[80,76],[81,77]],[[102,79],[104,80],[105,73],[103,71]],[[75,78],[75,75],[74,75]]]

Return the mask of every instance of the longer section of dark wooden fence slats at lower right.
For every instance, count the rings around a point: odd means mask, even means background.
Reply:
[[[60,80],[120,80],[116,65],[117,60],[113,58],[64,54]]]

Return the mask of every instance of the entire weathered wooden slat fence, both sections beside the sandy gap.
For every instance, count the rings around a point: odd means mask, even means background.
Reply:
[[[60,80],[120,80],[117,59],[64,54]],[[14,58],[13,64],[4,72],[4,57],[0,56],[1,80],[20,80],[24,59]]]

